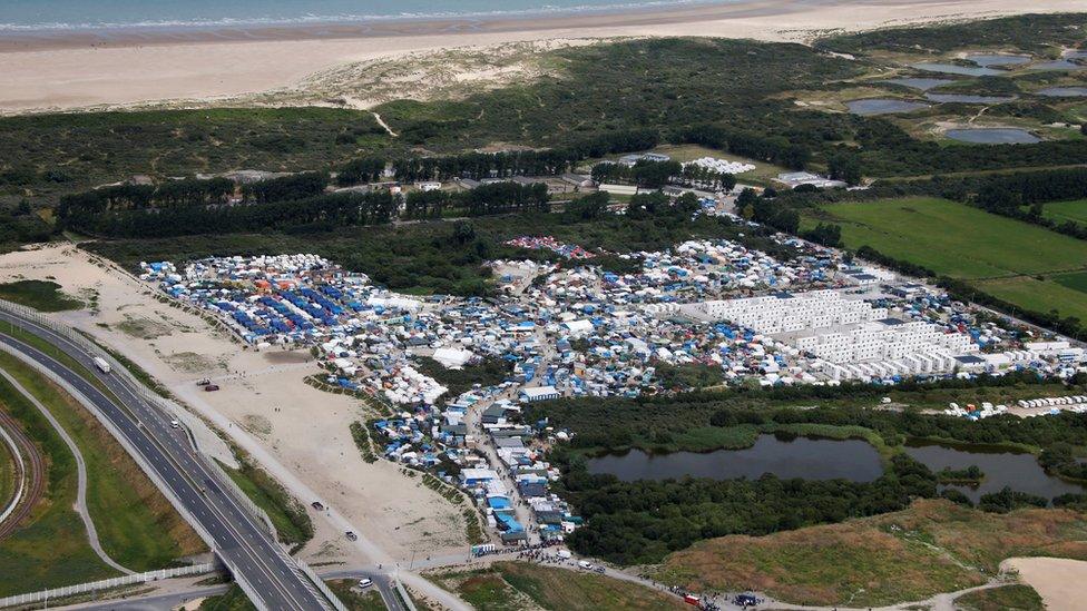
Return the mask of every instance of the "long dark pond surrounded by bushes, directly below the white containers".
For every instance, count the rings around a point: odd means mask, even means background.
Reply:
[[[871,482],[883,474],[880,456],[868,442],[796,437],[783,441],[760,435],[745,450],[649,454],[631,450],[589,459],[589,473],[609,473],[625,482],[684,476],[732,480],[773,473],[781,479],[845,479]]]

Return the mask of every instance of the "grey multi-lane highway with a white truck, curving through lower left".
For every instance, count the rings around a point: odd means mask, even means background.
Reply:
[[[120,405],[66,365],[36,347],[7,335],[9,324],[45,339],[86,367],[109,390]],[[94,356],[77,342],[47,326],[7,311],[0,311],[0,344],[32,359],[91,403],[124,445],[149,465],[167,497],[180,503],[205,539],[210,538],[218,558],[231,569],[253,602],[262,609],[330,609],[329,602],[297,565],[287,558],[266,525],[248,513],[223,489],[213,465],[189,445],[183,428],[172,428],[170,416],[130,387],[117,373],[102,374]],[[79,398],[79,397],[77,397]]]

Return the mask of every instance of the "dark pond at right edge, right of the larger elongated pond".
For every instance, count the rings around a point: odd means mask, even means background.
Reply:
[[[977,465],[985,480],[977,487],[951,485],[975,503],[982,494],[1000,492],[1005,486],[1052,499],[1067,493],[1081,493],[1084,489],[1048,475],[1034,454],[1015,453],[1003,449],[986,450],[980,446],[948,446],[940,444],[909,443],[905,453],[922,462],[933,472],[944,467],[953,470]]]

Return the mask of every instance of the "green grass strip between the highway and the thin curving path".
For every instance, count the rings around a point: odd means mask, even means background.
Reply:
[[[87,464],[87,506],[110,558],[147,571],[205,551],[196,532],[94,415],[14,357],[0,354],[0,366],[49,407],[75,440]]]

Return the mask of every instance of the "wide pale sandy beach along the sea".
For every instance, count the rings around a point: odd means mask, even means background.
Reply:
[[[518,41],[713,36],[805,41],[830,31],[1024,12],[1083,11],[1081,0],[747,0],[668,10],[517,19],[306,27],[6,33],[0,114],[206,104],[291,88],[336,66]]]

